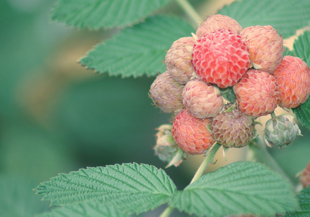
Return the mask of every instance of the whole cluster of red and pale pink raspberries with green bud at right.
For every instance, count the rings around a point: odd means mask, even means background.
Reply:
[[[186,154],[203,154],[215,142],[246,146],[255,137],[256,118],[278,105],[287,110],[307,101],[310,69],[298,57],[283,57],[283,39],[272,26],[242,29],[218,14],[192,35],[173,42],[167,71],[157,76],[149,93],[157,107],[173,113],[171,135]],[[225,105],[221,91],[228,89],[235,102]],[[273,117],[270,124],[264,137],[268,145],[276,145],[273,134],[282,131],[281,124],[297,126],[284,117]],[[294,135],[284,133],[290,136],[280,141],[281,148],[300,135],[297,128]]]

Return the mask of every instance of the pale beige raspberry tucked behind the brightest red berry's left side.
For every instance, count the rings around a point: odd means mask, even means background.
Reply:
[[[166,54],[169,74],[183,85],[193,76],[192,52],[195,42],[193,37],[179,38],[173,42]]]

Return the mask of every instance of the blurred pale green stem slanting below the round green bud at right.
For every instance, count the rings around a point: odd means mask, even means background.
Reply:
[[[248,154],[248,161],[255,160],[266,164],[266,166],[270,167],[274,171],[277,171],[279,174],[289,180],[290,183],[293,184],[294,182],[290,180],[290,178],[276,162],[276,160],[271,156],[269,151],[266,149],[266,145],[263,144],[262,140],[259,139],[259,137],[256,137],[255,143],[256,145],[253,143],[249,144],[250,153]]]

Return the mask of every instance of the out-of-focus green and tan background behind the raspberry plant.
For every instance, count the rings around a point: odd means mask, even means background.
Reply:
[[[205,18],[232,1],[189,2]],[[4,217],[50,210],[49,202],[41,202],[32,189],[58,173],[115,163],[166,165],[152,150],[155,128],[170,121],[170,115],[148,98],[155,77],[122,79],[86,70],[78,59],[118,30],[50,23],[54,4],[55,0],[0,1],[0,216]],[[159,12],[184,15],[173,1]],[[269,118],[260,121],[264,124]],[[305,138],[309,131],[301,129],[304,138],[283,151],[271,149],[294,184],[295,174],[310,160]],[[246,152],[246,148],[229,150],[227,162],[220,153],[210,170],[246,160]],[[189,183],[201,160],[189,156],[179,167],[166,169],[178,189]],[[163,209],[140,216],[158,216]],[[177,211],[173,215],[186,216]]]

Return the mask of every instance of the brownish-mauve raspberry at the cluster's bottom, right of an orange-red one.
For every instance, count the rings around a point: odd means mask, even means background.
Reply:
[[[241,148],[249,144],[254,137],[253,118],[243,114],[239,109],[223,112],[212,119],[214,139],[229,148]]]

